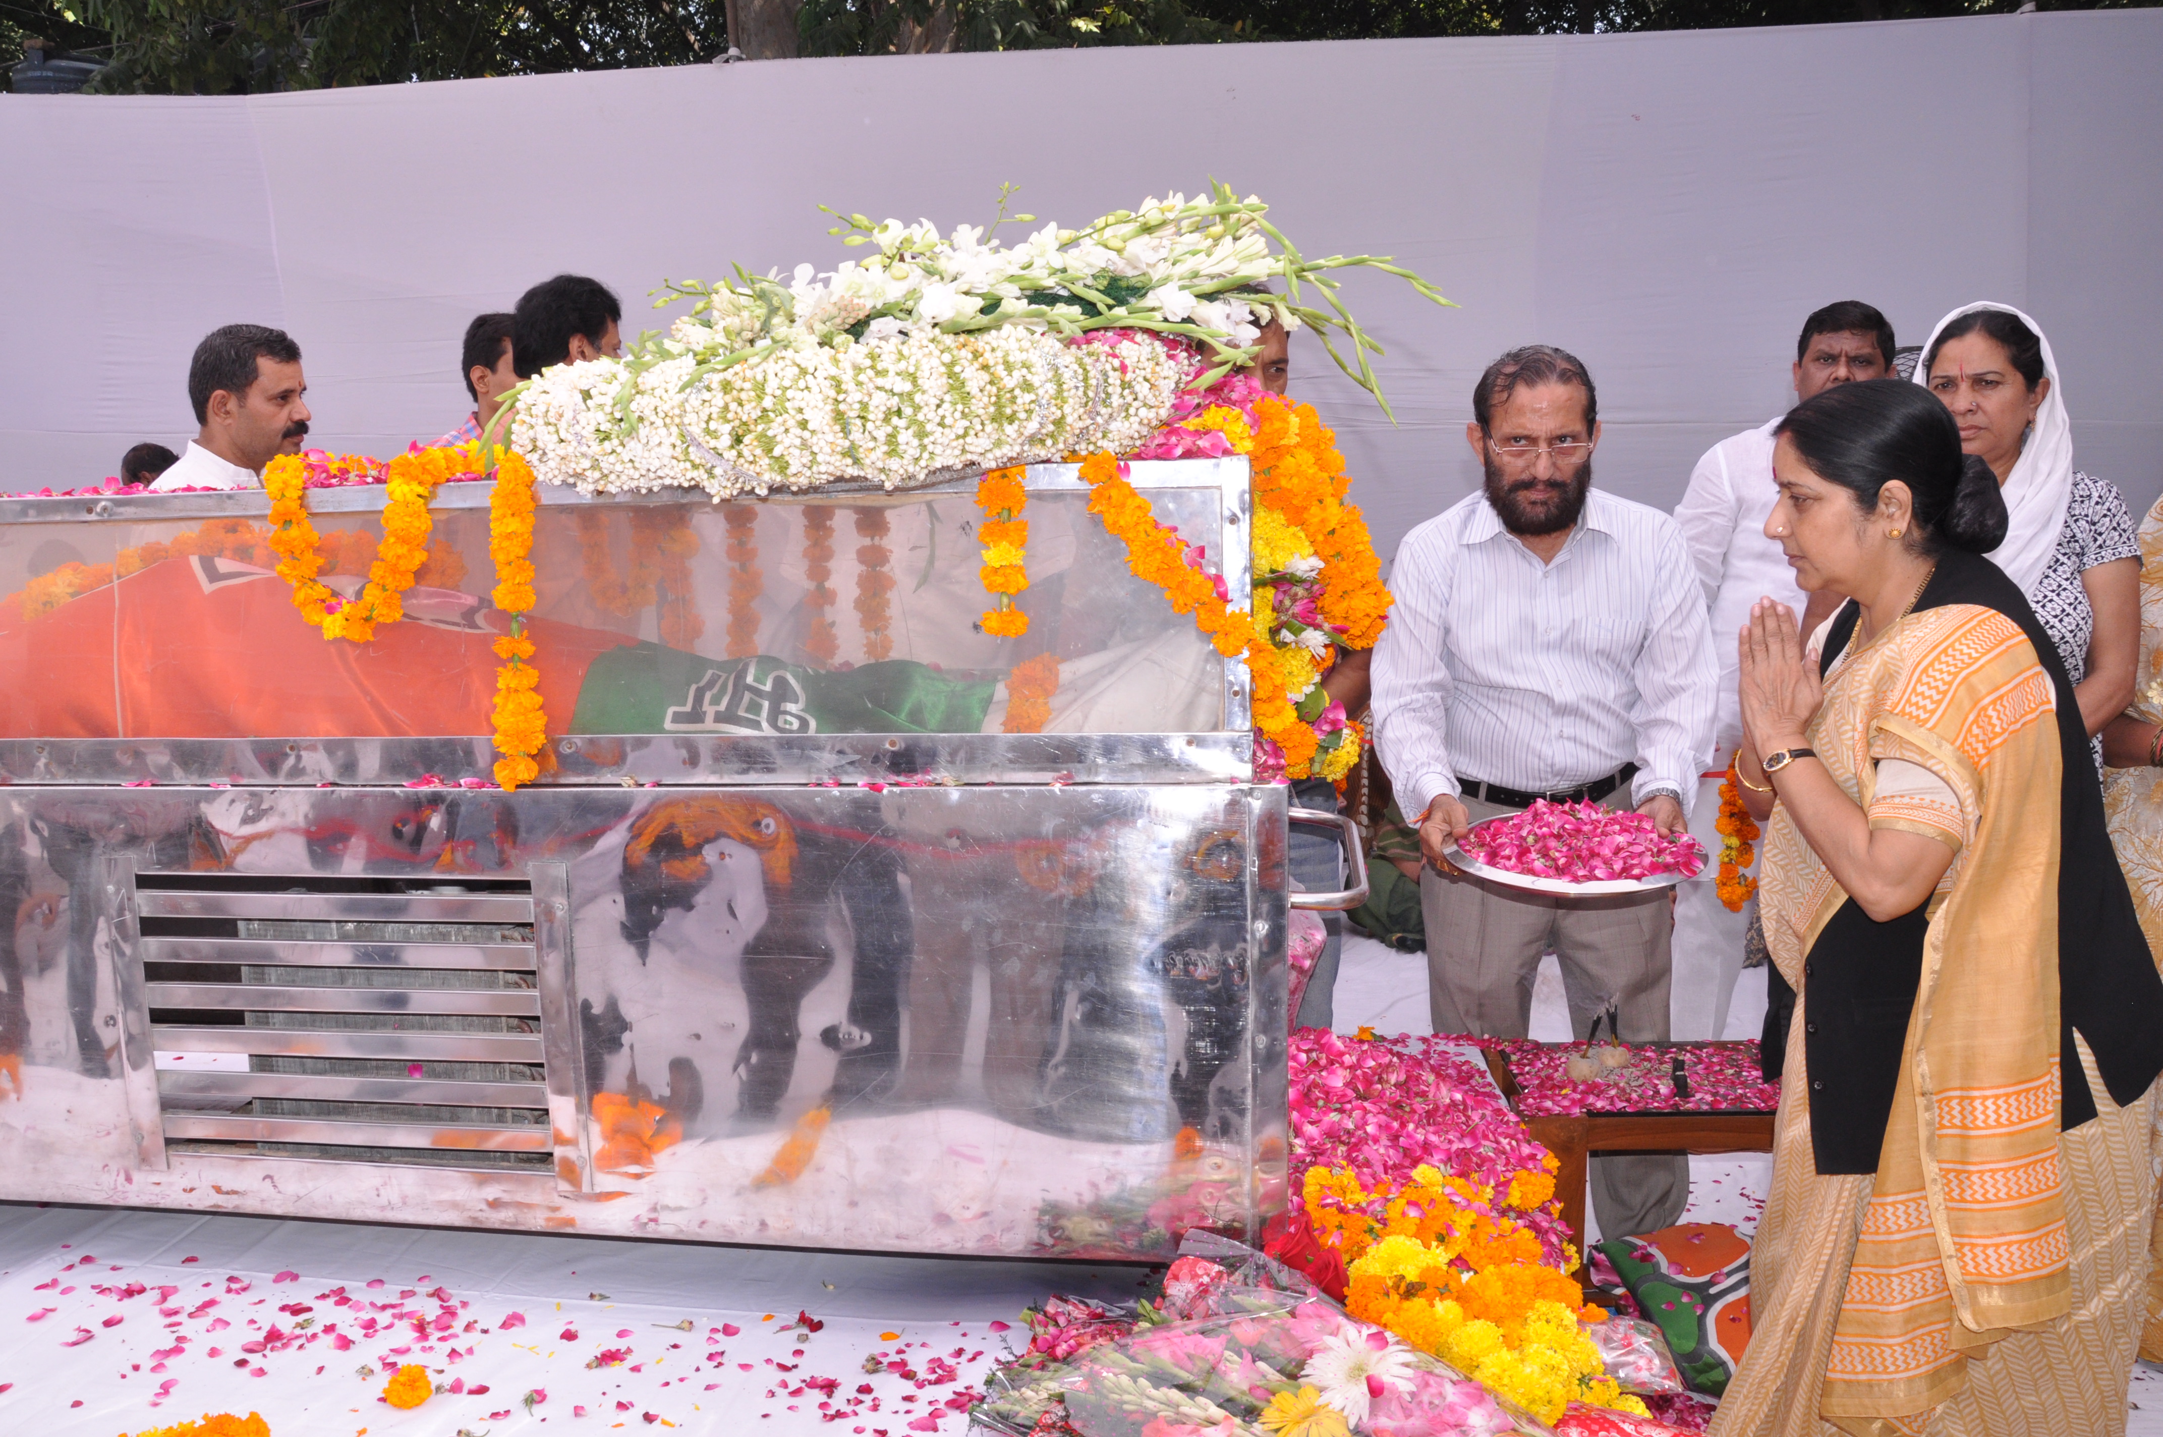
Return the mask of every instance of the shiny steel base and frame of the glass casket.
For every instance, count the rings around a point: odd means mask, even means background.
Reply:
[[[1246,591],[1244,461],[1133,483],[1213,491]],[[402,786],[485,736],[0,740],[0,1199],[1092,1257],[1280,1208],[1287,790],[1242,662],[1209,731],[554,742],[504,794]]]

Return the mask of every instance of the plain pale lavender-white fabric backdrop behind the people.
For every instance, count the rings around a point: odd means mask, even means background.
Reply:
[[[1968,299],[2035,314],[2079,461],[2163,483],[2163,11],[1622,37],[774,61],[249,100],[0,97],[11,361],[0,487],[180,446],[186,361],[257,320],[307,357],[316,441],[385,454],[467,409],[456,344],[556,271],[638,327],[664,275],[831,264],[818,203],[1075,223],[1216,175],[1354,277],[1399,426],[1324,377],[1384,556],[1469,491],[1471,383],[1510,344],[1603,390],[1598,480],[1659,506],[1789,403],[1804,314],[1906,342]],[[651,322],[666,322],[653,318]]]

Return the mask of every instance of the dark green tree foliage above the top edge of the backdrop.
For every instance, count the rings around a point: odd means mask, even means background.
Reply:
[[[2159,0],[2042,0],[2042,9]],[[0,43],[110,58],[95,89],[240,95],[333,84],[1248,39],[1402,39],[1906,19],[2020,0],[0,0]]]

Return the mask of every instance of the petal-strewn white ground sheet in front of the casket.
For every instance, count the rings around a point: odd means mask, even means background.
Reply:
[[[1023,1307],[1131,1298],[1142,1277],[0,1205],[0,1433],[260,1411],[275,1437],[958,1435]],[[456,1392],[392,1409],[400,1361]]]

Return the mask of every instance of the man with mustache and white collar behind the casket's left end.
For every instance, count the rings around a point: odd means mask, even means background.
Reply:
[[[188,361],[188,403],[201,426],[151,489],[260,489],[264,465],[307,437],[301,346],[283,329],[212,329]]]

